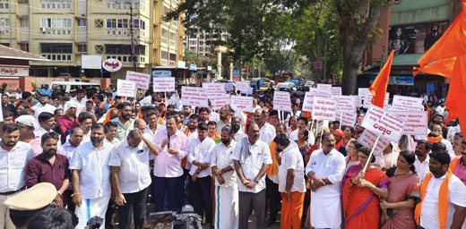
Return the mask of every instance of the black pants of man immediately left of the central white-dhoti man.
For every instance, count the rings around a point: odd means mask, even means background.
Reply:
[[[197,178],[195,182],[191,182],[190,187],[194,198],[194,212],[203,216],[205,211],[207,224],[212,224],[211,182],[211,176]]]

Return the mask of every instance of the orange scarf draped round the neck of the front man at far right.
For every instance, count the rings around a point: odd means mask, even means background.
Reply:
[[[438,191],[438,224],[440,225],[440,229],[444,229],[446,225],[446,214],[448,208],[448,182],[450,181],[451,176],[452,171],[448,170],[446,178],[444,179],[444,182],[442,182],[440,190]],[[432,174],[430,174],[429,172],[427,173],[424,182],[422,182],[422,184],[420,185],[420,203],[416,206],[416,211],[414,213],[416,223],[418,225],[420,223],[419,218],[420,211],[422,208],[422,201],[426,197],[427,184],[430,181],[430,178],[432,178]]]

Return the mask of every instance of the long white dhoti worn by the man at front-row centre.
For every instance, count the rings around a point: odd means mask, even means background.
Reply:
[[[215,228],[237,229],[238,227],[237,184],[228,188],[215,186]]]

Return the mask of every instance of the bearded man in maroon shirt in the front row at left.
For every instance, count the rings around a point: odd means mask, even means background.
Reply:
[[[63,193],[70,185],[70,170],[68,158],[56,154],[59,135],[47,132],[41,137],[42,153],[32,158],[26,166],[26,188],[30,189],[39,182],[52,183],[56,188],[54,203],[57,208],[66,207]]]

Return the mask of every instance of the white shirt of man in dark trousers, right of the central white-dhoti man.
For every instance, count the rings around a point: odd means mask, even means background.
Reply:
[[[242,158],[241,156],[241,142],[246,141],[246,145],[249,147],[250,155]],[[237,142],[237,146],[233,149],[233,160],[239,161],[243,174],[246,180],[254,181],[257,174],[261,170],[263,165],[272,165],[272,157],[269,151],[269,147],[262,140],[257,140],[254,145],[247,138]],[[257,193],[265,189],[265,176],[259,180],[253,190],[247,189],[245,185],[237,177],[238,191],[253,192]]]

